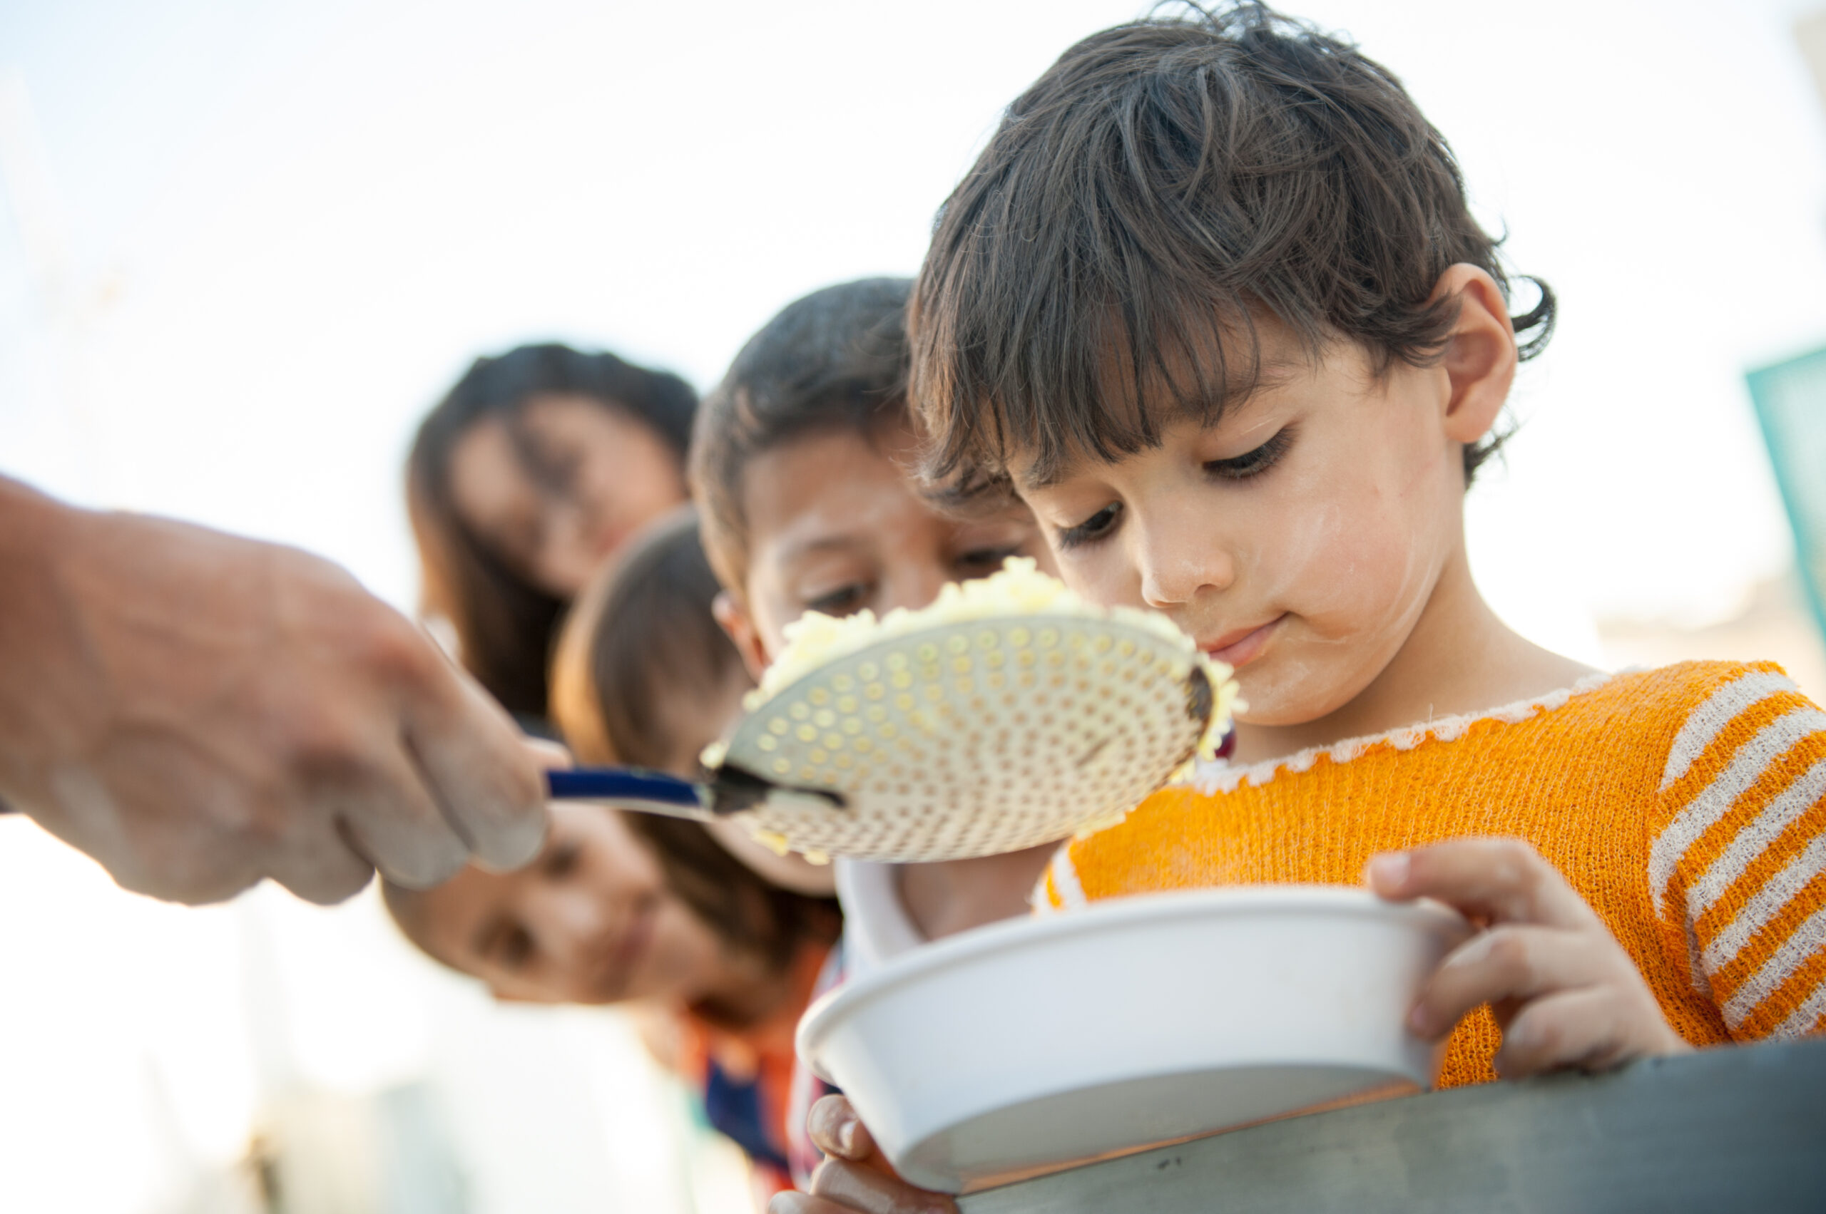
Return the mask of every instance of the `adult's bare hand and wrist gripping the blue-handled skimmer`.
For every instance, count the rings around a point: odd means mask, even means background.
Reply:
[[[0,478],[0,800],[126,889],[312,902],[530,860],[540,759],[341,568]]]

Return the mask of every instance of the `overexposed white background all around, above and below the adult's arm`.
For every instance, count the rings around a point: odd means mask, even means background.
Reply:
[[[1497,608],[1587,661],[1791,597],[1742,376],[1826,343],[1810,7],[1302,9],[1408,82],[1561,296],[1470,528]],[[911,274],[999,108],[1136,11],[5,0],[0,473],[411,608],[400,464],[471,358],[566,340],[708,387],[798,294]],[[1771,644],[1821,668],[1806,628]],[[389,1092],[444,1110],[446,1209],[741,1209],[624,1022],[497,1010],[371,896],[155,905],[7,822],[0,922],[0,1210],[252,1209],[254,1136]]]

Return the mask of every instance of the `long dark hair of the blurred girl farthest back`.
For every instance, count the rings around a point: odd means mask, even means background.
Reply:
[[[456,632],[464,666],[509,712],[546,714],[546,663],[564,601],[508,568],[456,511],[451,453],[471,425],[509,418],[535,396],[584,396],[652,427],[685,466],[698,396],[685,380],[608,352],[522,345],[478,358],[418,425],[405,500],[418,540],[422,610]]]

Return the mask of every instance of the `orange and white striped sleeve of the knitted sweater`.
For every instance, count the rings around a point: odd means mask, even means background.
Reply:
[[[1826,712],[1773,665],[1720,674],[1667,754],[1649,896],[1737,1041],[1826,1028]]]

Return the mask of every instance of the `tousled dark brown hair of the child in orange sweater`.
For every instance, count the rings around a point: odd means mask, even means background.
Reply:
[[[1002,117],[933,232],[909,330],[942,495],[1044,480],[1211,424],[1256,374],[1258,316],[1317,354],[1435,358],[1453,263],[1508,290],[1452,150],[1348,42],[1236,4],[1068,49]],[[1516,318],[1541,351],[1554,296]],[[1163,407],[1165,398],[1165,407]],[[1464,449],[1466,478],[1497,445]]]

